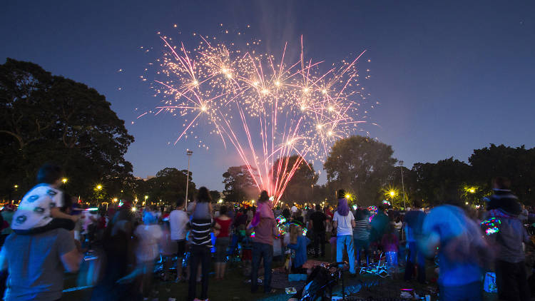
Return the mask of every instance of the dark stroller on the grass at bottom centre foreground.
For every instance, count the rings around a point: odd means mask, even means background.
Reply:
[[[342,282],[342,296],[345,296],[344,279],[342,267],[347,266],[347,262],[333,262],[327,267],[318,265],[307,277],[307,284],[297,291],[290,300],[298,301],[330,301],[332,289],[338,282]]]

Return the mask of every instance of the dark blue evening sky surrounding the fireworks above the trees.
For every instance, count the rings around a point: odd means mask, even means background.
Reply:
[[[535,146],[534,1],[4,1],[0,61],[32,61],[105,95],[136,138],[126,155],[134,174],[187,168],[223,188],[237,165],[217,140],[210,151],[175,141],[180,120],[136,121],[158,100],[144,68],[163,53],[158,31],[194,46],[191,33],[241,30],[280,52],[302,34],[307,56],[336,63],[367,49],[363,82],[381,103],[370,113],[372,137],[392,145],[405,165],[453,156],[466,161],[489,143]],[[177,29],[173,28],[177,24]],[[178,34],[178,31],[181,34]],[[148,53],[143,49],[153,48]],[[123,69],[123,72],[118,72]],[[151,78],[148,78],[151,80]],[[121,88],[121,90],[119,90]],[[317,164],[316,169],[322,166]]]

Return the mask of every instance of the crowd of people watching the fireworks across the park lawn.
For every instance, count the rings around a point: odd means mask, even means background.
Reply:
[[[93,210],[63,193],[62,177],[60,167],[44,165],[18,208],[1,212],[4,300],[59,300],[65,270],[80,270],[78,284],[93,287],[91,300],[151,300],[155,277],[185,282],[188,301],[208,300],[212,265],[222,280],[233,260],[251,292],[260,290],[263,275],[261,290],[271,294],[274,261],[290,275],[308,275],[309,257],[345,261],[350,277],[383,260],[392,277],[420,283],[438,262],[440,300],[481,300],[485,272],[492,270],[500,300],[529,300],[524,224],[532,215],[505,178],[494,179],[494,194],[479,211],[464,208],[455,192],[444,205],[399,211],[386,204],[350,207],[344,190],[336,208],[282,208],[266,191],[256,206],[215,205],[204,187],[173,208],[124,202]]]

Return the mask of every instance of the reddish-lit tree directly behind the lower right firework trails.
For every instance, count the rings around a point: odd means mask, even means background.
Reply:
[[[296,164],[297,166],[295,166]],[[279,166],[281,167],[280,170],[278,168]],[[278,158],[275,163],[273,163],[270,173],[272,175],[272,183],[281,185],[280,177],[285,173],[283,170],[286,169],[286,173],[290,173],[290,170],[294,166],[296,167],[295,172],[293,173],[292,178],[288,181],[280,200],[290,203],[306,203],[307,201],[311,201],[313,198],[312,192],[314,190],[314,185],[316,185],[319,176],[315,173],[312,163],[303,160],[299,155]],[[277,172],[277,170],[279,172]],[[279,178],[279,182],[277,182],[277,177]]]

